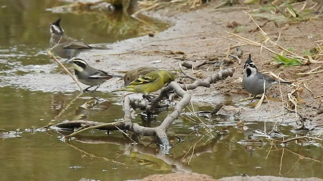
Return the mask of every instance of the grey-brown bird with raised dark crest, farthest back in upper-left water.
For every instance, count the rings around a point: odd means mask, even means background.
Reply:
[[[50,39],[49,44],[52,51],[62,57],[71,59],[77,57],[80,54],[80,50],[84,49],[106,49],[103,47],[93,47],[81,41],[75,40],[64,34],[64,30],[61,27],[61,19],[49,24]]]

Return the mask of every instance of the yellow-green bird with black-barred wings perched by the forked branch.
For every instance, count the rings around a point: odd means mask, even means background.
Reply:
[[[149,95],[149,93],[158,91],[166,83],[174,81],[174,75],[167,70],[157,70],[152,71],[144,76],[141,76],[134,81],[130,82],[123,88],[116,89],[112,92],[117,91],[129,91],[133,93],[142,93],[144,95]]]

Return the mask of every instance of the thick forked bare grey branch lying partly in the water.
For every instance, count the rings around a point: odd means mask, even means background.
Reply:
[[[189,89],[194,89],[198,86],[209,87],[211,83],[216,82],[218,80],[224,80],[228,76],[232,76],[234,72],[233,68],[228,68],[225,70],[220,70],[216,74],[207,77],[204,80],[196,80],[191,84],[179,84],[177,82],[171,82],[165,88],[163,88],[160,94],[155,97],[151,103],[148,102],[139,102],[134,98],[125,97],[123,101],[123,110],[124,110],[124,121],[118,121],[113,123],[100,123],[100,122],[92,122],[92,121],[70,121],[64,122],[56,125],[60,128],[76,128],[82,127],[82,129],[78,132],[74,132],[67,137],[75,136],[80,132],[83,132],[86,129],[99,129],[99,130],[128,130],[132,131],[135,134],[140,134],[144,136],[156,136],[158,138],[158,142],[160,144],[160,148],[164,153],[168,153],[171,148],[171,143],[167,137],[166,131],[172,125],[172,123],[177,120],[183,111],[183,109],[189,104],[191,100],[191,95],[187,92]],[[132,123],[132,109],[136,108],[145,108],[148,114],[152,113],[156,108],[160,105],[158,104],[161,99],[165,97],[166,94],[170,92],[175,92],[182,99],[175,105],[175,108],[171,114],[169,114],[164,121],[157,127],[150,128],[140,126],[137,123]]]

